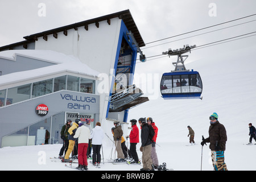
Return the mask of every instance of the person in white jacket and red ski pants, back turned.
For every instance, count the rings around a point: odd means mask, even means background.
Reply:
[[[78,160],[79,166],[77,169],[84,169],[88,170],[88,163],[87,163],[87,148],[88,148],[88,141],[90,138],[90,130],[88,127],[84,126],[84,123],[79,121],[79,127],[76,130],[76,134],[74,138],[78,138]]]

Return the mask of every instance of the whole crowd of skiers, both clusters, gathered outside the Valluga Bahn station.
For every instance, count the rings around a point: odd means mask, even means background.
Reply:
[[[61,147],[59,158],[62,162],[72,162],[73,156],[78,155],[79,166],[77,169],[88,169],[87,158],[89,157],[90,142],[92,142],[92,163],[94,166],[99,166],[101,162],[100,148],[102,139],[104,138],[104,131],[101,129],[101,123],[97,122],[96,127],[90,127],[90,121],[82,123],[80,119],[75,119],[71,126],[71,120],[61,129],[61,139],[63,139],[63,147]],[[130,150],[125,146],[125,139],[123,138],[123,130],[120,122],[114,122],[112,127],[113,139],[115,144],[115,151],[117,151],[117,159],[114,162],[129,162],[140,164],[136,146],[139,143],[139,129],[137,120],[131,119],[131,131],[126,136],[130,138]],[[155,150],[156,138],[158,135],[158,127],[156,127],[152,118],[139,118],[139,125],[141,126],[141,143],[140,151],[142,152],[142,171],[157,169],[158,156]],[[76,146],[78,144],[78,147]],[[76,147],[75,147],[76,146]],[[126,152],[127,151],[127,152]],[[65,153],[64,153],[65,152]],[[72,152],[72,160],[69,156]],[[65,155],[63,155],[65,154]],[[131,159],[127,161],[127,159]]]

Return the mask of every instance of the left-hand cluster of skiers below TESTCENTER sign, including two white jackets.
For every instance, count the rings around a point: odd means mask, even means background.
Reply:
[[[101,144],[104,138],[104,131],[101,129],[101,123],[97,122],[96,127],[90,127],[90,121],[86,119],[82,123],[80,119],[75,119],[71,126],[71,120],[61,129],[61,139],[63,139],[63,147],[60,149],[59,158],[62,162],[73,162],[74,156],[77,155],[79,166],[77,169],[88,169],[87,159],[90,157],[91,146],[93,150],[92,163],[94,166],[99,166],[101,162]],[[78,144],[78,146],[77,146]],[[75,147],[76,146],[76,147]],[[63,155],[65,151],[65,155]],[[72,152],[72,160],[69,156]]]

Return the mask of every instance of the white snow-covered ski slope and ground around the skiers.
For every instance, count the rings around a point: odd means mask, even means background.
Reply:
[[[203,100],[166,101],[159,97],[130,109],[128,121],[133,118],[152,117],[158,126],[156,152],[159,164],[166,162],[167,168],[173,168],[175,171],[200,171],[201,136],[208,137],[209,116],[216,112],[228,135],[225,151],[228,169],[256,170],[256,145],[245,144],[249,142],[248,124],[251,122],[256,125],[254,52],[255,47],[251,47],[239,52],[216,54],[207,60],[187,64],[188,69],[200,72],[203,80]],[[137,69],[140,67],[143,65],[138,64]],[[186,146],[189,142],[188,125],[195,131],[195,146]],[[110,159],[112,146],[110,139],[105,137],[104,162]],[[139,147],[140,144],[137,144],[137,152],[141,158]],[[51,162],[49,158],[57,156],[60,148],[61,144],[0,148],[1,163],[5,164],[0,166],[0,170],[76,170],[64,167],[63,163]],[[202,165],[203,171],[213,170],[209,144],[203,147]],[[89,164],[88,168],[92,171],[138,171],[142,166],[104,164],[102,160],[100,169],[94,168],[92,164]]]

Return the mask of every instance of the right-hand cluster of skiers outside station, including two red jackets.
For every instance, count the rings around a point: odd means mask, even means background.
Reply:
[[[129,163],[141,163],[138,158],[136,151],[137,143],[139,143],[139,129],[137,126],[137,120],[131,119],[131,131],[126,138],[130,138],[130,154],[131,160]],[[141,171],[154,170],[158,168],[158,156],[156,155],[155,143],[158,135],[158,127],[155,126],[152,118],[139,118],[138,123],[141,126],[141,147],[140,151],[142,152],[142,164],[143,168]],[[120,122],[114,122],[114,128],[112,128],[114,135],[115,150],[117,151],[116,162],[126,162],[125,155],[123,154],[121,143],[122,143],[122,127]],[[150,130],[154,131],[153,136],[150,136]],[[128,150],[129,151],[129,150]]]

